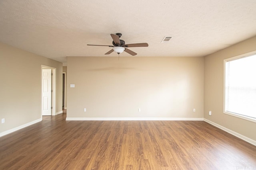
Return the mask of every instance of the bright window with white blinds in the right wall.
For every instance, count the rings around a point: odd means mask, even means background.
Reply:
[[[256,51],[224,60],[224,113],[256,122]]]

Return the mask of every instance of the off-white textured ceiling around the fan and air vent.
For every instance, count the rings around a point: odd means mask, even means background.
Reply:
[[[136,56],[199,57],[256,35],[255,9],[255,0],[1,0],[0,41],[65,63],[105,56],[110,47],[86,44],[122,33],[149,44],[129,48]]]

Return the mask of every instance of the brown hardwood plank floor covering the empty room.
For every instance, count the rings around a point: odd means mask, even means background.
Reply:
[[[204,121],[44,117],[0,137],[0,170],[255,170],[256,147]]]

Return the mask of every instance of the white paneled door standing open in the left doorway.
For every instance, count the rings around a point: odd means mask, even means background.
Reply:
[[[52,115],[52,69],[42,69],[42,115]]]

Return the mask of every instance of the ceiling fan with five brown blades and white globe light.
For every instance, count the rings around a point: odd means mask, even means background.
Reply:
[[[92,44],[87,44],[87,45],[113,47],[113,49],[108,51],[107,53],[105,53],[105,55],[108,55],[108,54],[112,53],[113,51],[115,51],[119,55],[120,53],[125,51],[126,53],[133,55],[133,56],[137,55],[137,53],[127,49],[127,47],[148,47],[148,43],[125,44],[125,41],[120,39],[120,37],[122,36],[121,33],[110,34],[110,35],[113,39],[113,41],[112,41],[113,45],[92,45]]]

